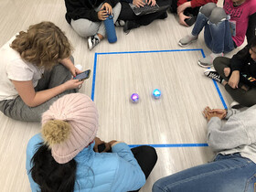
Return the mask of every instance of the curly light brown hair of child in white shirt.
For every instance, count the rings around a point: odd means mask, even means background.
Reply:
[[[10,45],[27,62],[39,68],[52,69],[59,59],[69,58],[72,47],[64,32],[53,23],[44,21],[20,31]]]

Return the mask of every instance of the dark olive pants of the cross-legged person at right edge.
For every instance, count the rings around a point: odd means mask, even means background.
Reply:
[[[213,61],[214,68],[219,73],[219,75],[226,80],[229,81],[229,77],[226,77],[224,74],[224,68],[230,68],[230,59],[225,57],[219,57],[214,59]],[[234,101],[238,101],[241,105],[246,107],[251,107],[256,104],[256,88],[251,87],[248,91],[241,89],[240,87],[243,85],[242,82],[239,83],[239,88],[233,89],[227,83],[225,85],[226,91],[229,92],[230,96]],[[248,87],[248,85],[245,84]]]

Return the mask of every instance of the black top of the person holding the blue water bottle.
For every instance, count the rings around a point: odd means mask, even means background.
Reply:
[[[98,18],[98,13],[94,10],[101,3],[108,3],[113,7],[118,3],[118,0],[65,0],[66,20],[69,24],[71,19],[77,20],[80,18],[86,18],[92,22],[101,21]]]

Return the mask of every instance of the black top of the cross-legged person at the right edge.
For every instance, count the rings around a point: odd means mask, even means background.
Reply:
[[[231,71],[240,71],[240,81],[249,86],[256,86],[256,62],[251,59],[250,46],[242,48],[230,59]]]

